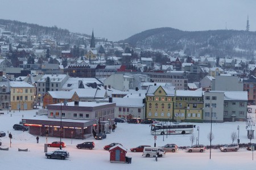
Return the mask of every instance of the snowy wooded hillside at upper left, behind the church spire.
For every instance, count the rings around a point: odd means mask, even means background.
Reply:
[[[6,19],[0,19],[0,28],[2,28],[3,31],[10,31],[14,33],[14,35],[37,36],[39,41],[48,38],[54,39],[57,42],[76,44],[81,37],[89,37],[85,34],[71,33],[68,29],[61,29],[56,26],[44,27],[38,24],[29,24]]]

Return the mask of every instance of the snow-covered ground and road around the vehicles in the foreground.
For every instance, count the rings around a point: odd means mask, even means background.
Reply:
[[[250,116],[256,122],[255,109]],[[65,150],[69,151],[70,157],[66,160],[47,159],[44,156],[45,137],[39,137],[39,144],[36,143],[36,136],[28,134],[27,131],[15,131],[13,125],[19,123],[24,118],[35,116],[34,111],[12,111],[11,113],[1,114],[0,130],[11,132],[13,139],[10,147],[10,139],[8,134],[6,137],[0,138],[2,148],[9,147],[9,151],[0,151],[1,169],[245,169],[254,168],[256,166],[256,158],[253,160],[253,152],[247,151],[246,148],[241,148],[238,152],[220,152],[220,150],[212,149],[211,159],[209,159],[209,150],[203,153],[187,153],[184,150],[179,150],[175,153],[167,153],[163,158],[159,158],[158,162],[155,158],[144,158],[141,152],[131,152],[131,147],[139,145],[154,146],[154,136],[150,134],[150,126],[142,124],[117,124],[117,129],[114,133],[107,134],[107,138],[102,141],[97,141],[94,138],[89,138],[84,141],[94,141],[96,147],[93,150],[79,150],[76,148],[77,143],[82,143],[82,139],[67,139],[64,141],[67,145]],[[199,126],[199,143],[210,145],[207,135],[210,132],[210,124],[195,124],[194,135],[197,137]],[[236,132],[240,126],[240,143],[249,143],[247,139],[247,130],[245,122],[225,122],[223,124],[212,124],[214,139],[212,145],[232,143],[231,134]],[[256,130],[256,126],[252,127]],[[178,146],[191,146],[189,137],[191,135],[158,135],[156,146],[163,146],[167,143],[175,143]],[[255,134],[256,136],[256,134]],[[255,137],[256,138],[256,137]],[[48,143],[59,141],[59,138],[48,137]],[[109,162],[109,152],[103,150],[105,145],[112,142],[122,143],[127,148],[126,156],[132,158],[131,164],[118,164]],[[252,139],[252,143],[256,143],[256,139]],[[194,143],[195,144],[195,143]],[[18,148],[28,148],[28,152],[18,152]],[[56,148],[48,148],[48,151],[56,150]],[[256,155],[255,155],[256,157]]]

